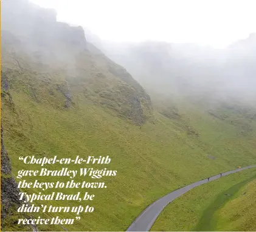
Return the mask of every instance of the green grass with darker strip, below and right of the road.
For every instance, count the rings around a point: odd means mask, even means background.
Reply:
[[[255,178],[253,168],[190,190],[162,211],[151,231],[255,230]]]

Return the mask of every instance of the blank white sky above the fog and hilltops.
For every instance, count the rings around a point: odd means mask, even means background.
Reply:
[[[215,47],[256,31],[256,0],[30,0],[58,21],[111,41],[195,42]]]

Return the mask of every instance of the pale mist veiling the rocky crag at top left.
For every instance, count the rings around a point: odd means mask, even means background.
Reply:
[[[78,58],[88,52],[82,27],[57,22],[56,10],[27,0],[5,0],[2,6],[4,67],[18,61],[19,69],[36,70],[38,74],[60,73],[69,79],[80,75]]]

